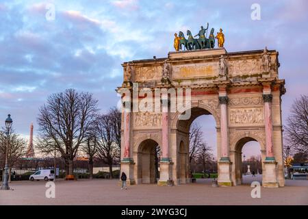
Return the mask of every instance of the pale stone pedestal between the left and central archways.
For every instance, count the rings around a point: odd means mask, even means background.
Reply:
[[[159,162],[159,181],[157,185],[174,185],[172,180],[172,165],[168,157],[162,157],[161,162]]]

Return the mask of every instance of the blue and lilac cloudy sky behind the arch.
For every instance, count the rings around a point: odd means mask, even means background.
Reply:
[[[260,21],[251,19],[253,3],[261,6]],[[66,88],[92,92],[107,110],[118,100],[121,63],[166,57],[175,32],[197,34],[209,22],[224,30],[227,51],[279,51],[285,119],[292,101],[308,94],[307,12],[305,0],[0,0],[0,118],[12,114],[14,129],[27,136],[38,107]],[[199,121],[212,136],[214,120]]]

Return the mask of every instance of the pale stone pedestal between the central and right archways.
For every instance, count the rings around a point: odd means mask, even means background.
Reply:
[[[232,162],[229,157],[222,157],[218,162],[218,185],[220,186],[232,186],[231,181],[231,168]]]

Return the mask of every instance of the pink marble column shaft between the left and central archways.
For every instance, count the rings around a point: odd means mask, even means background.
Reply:
[[[168,105],[162,110],[162,157],[169,157],[169,115]]]

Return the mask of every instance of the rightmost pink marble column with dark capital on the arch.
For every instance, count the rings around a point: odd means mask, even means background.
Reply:
[[[274,157],[272,144],[272,94],[264,94],[264,123],[266,134],[266,157]]]

